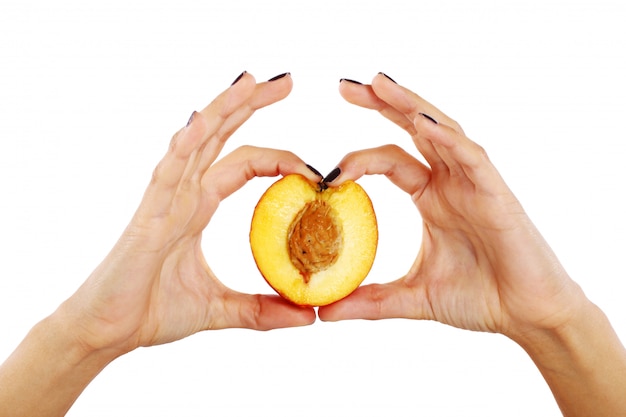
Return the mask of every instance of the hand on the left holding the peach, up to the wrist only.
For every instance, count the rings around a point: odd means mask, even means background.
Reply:
[[[319,181],[285,151],[247,146],[214,164],[226,139],[291,87],[290,76],[257,84],[244,73],[176,133],[119,242],[57,312],[76,324],[86,349],[123,354],[205,329],[272,329],[315,320],[313,309],[278,296],[225,287],[201,251],[202,232],[220,201],[253,177],[299,173]]]

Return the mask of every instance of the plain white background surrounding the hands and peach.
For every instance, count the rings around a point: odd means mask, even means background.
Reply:
[[[0,5],[0,358],[88,276],[171,135],[243,70],[292,94],[231,139],[323,173],[410,139],[337,93],[384,71],[483,145],[572,277],[626,338],[626,12],[621,1],[14,1]],[[226,200],[204,239],[232,288],[271,292],[248,246],[272,179]],[[420,219],[364,178],[380,223],[366,282],[411,264]],[[2,360],[2,359],[0,359]],[[1,389],[1,387],[0,387]],[[71,416],[552,416],[499,335],[432,322],[204,332],[120,358]]]

